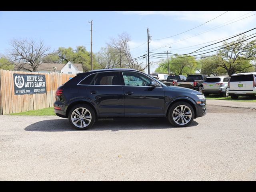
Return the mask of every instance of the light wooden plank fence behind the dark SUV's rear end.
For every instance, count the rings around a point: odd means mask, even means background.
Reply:
[[[13,74],[42,74],[46,78],[46,93],[14,94]],[[0,114],[10,114],[53,107],[55,92],[59,86],[75,74],[40,73],[0,70]]]

